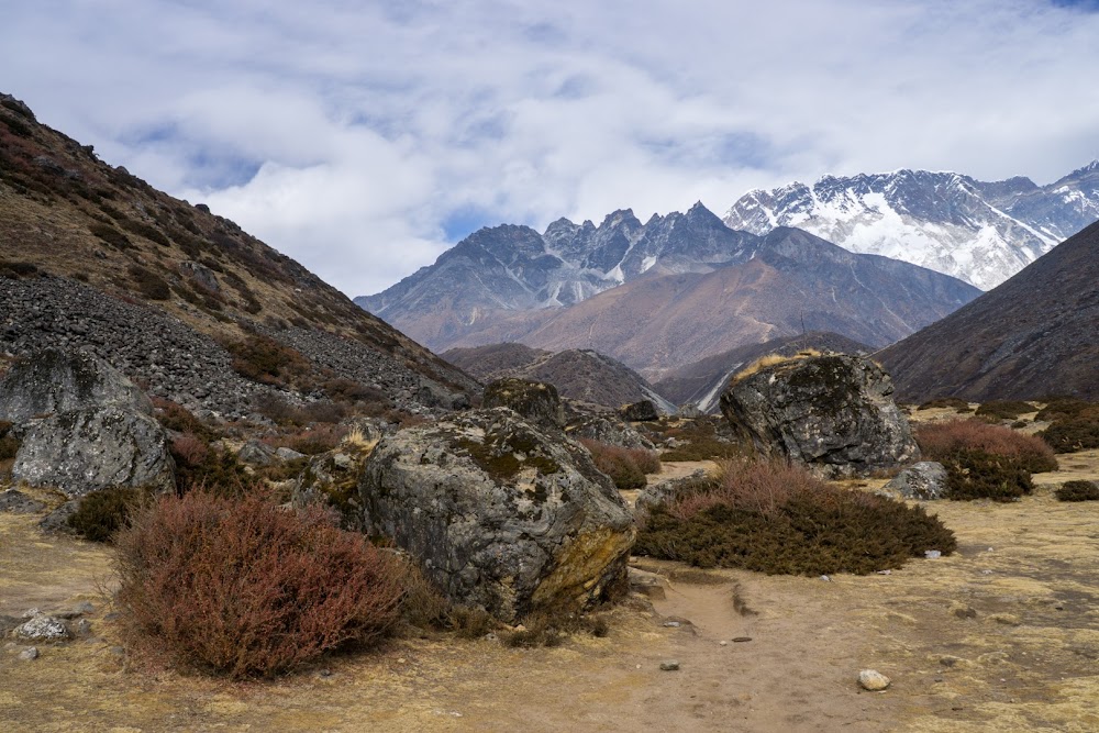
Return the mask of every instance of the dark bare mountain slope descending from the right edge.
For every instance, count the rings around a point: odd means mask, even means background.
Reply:
[[[909,400],[1099,398],[1099,223],[877,358]]]

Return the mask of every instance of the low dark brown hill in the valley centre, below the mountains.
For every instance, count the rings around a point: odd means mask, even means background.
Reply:
[[[556,387],[562,397],[607,408],[652,400],[662,412],[670,414],[676,410],[671,401],[636,371],[590,349],[554,354],[522,344],[491,344],[453,348],[442,356],[485,384],[518,377],[547,382]]]

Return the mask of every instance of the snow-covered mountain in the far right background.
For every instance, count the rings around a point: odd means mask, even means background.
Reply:
[[[1048,186],[898,170],[748,191],[724,216],[765,234],[797,226],[856,253],[952,275],[988,290],[1099,219],[1099,162]]]

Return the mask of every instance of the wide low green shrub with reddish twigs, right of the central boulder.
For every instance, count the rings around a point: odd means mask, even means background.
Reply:
[[[697,487],[653,509],[635,553],[767,574],[864,575],[956,547],[922,507],[840,489],[782,463],[736,462]]]

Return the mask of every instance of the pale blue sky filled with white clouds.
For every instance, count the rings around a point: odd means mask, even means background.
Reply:
[[[485,225],[1099,157],[1099,1],[35,0],[0,91],[351,297]]]

